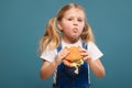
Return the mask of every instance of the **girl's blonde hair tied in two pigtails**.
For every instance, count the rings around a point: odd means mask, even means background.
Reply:
[[[62,21],[62,19],[64,18],[65,12],[68,11],[69,9],[72,9],[72,8],[80,9],[85,13],[84,8],[76,4],[76,3],[69,3],[69,4],[64,6],[58,11],[56,18],[53,18],[53,19],[51,19],[48,21],[48,23],[46,25],[45,34],[43,35],[43,37],[40,41],[40,48],[38,48],[40,53],[42,53],[47,47],[48,48],[56,48],[59,45],[62,35],[61,35],[61,31],[56,26],[56,22]],[[95,42],[91,28],[87,23],[87,19],[85,19],[85,28],[82,30],[82,33],[80,34],[80,38],[86,43],[88,41]]]

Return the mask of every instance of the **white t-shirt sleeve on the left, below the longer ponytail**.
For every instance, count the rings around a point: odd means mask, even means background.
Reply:
[[[45,50],[41,54],[41,58],[45,59],[47,62],[53,62],[55,59],[56,55],[57,55],[57,51],[56,50]]]

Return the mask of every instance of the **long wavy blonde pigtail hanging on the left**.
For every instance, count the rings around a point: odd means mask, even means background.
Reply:
[[[47,25],[45,34],[40,41],[40,52],[42,53],[45,48],[55,48],[59,44],[59,31],[55,25],[56,18],[52,18]]]

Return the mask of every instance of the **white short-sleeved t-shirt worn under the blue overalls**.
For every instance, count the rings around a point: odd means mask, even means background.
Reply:
[[[64,48],[65,46],[81,46],[82,47],[82,43],[81,40],[79,40],[78,42],[74,43],[74,44],[68,44],[64,41],[62,41],[62,48]],[[88,53],[91,56],[91,61],[96,61],[98,58],[100,58],[103,54],[101,53],[101,51],[97,47],[97,45],[92,42],[88,42],[87,43],[88,46]],[[57,55],[57,48],[55,50],[45,50],[42,55],[41,58],[45,59],[47,62],[53,62],[55,59]]]

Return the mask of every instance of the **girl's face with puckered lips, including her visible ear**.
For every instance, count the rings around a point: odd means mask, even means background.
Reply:
[[[75,43],[78,41],[82,29],[85,26],[85,13],[80,9],[69,9],[65,12],[61,22],[58,22],[59,30],[63,31],[63,38],[67,43]]]

